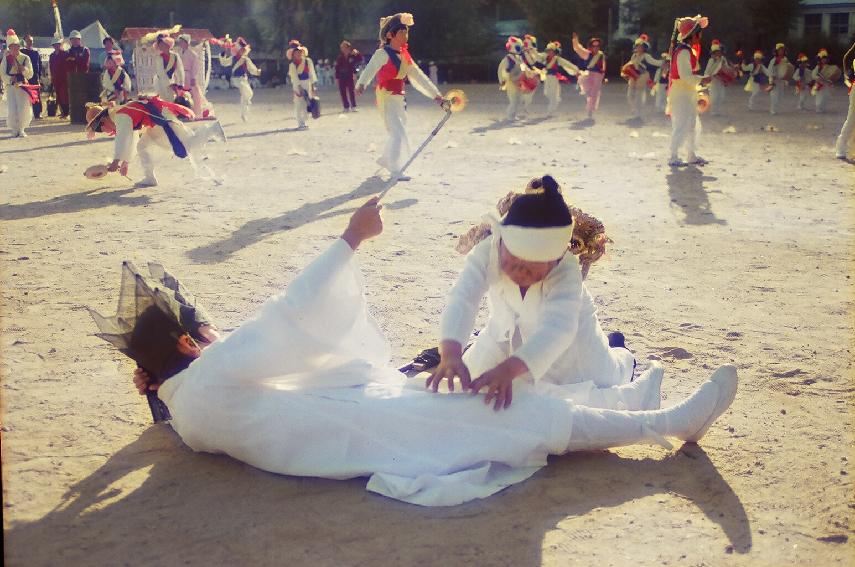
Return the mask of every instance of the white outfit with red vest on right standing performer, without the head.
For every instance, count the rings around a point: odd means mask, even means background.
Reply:
[[[670,163],[679,162],[677,153],[685,145],[688,161],[695,162],[700,158],[695,154],[698,137],[701,132],[701,120],[698,117],[698,90],[701,80],[693,68],[692,49],[686,44],[678,45],[674,52],[675,63],[671,67],[671,89],[668,101],[671,107],[671,159]],[[696,63],[697,64],[697,63]],[[676,67],[677,73],[674,73]]]

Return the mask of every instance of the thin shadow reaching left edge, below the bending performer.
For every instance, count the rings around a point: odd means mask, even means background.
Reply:
[[[128,196],[135,191],[134,187],[110,191],[101,191],[101,189],[106,187],[60,195],[47,201],[0,205],[0,220],[32,219],[113,206],[140,207],[151,203],[151,197],[148,195]]]

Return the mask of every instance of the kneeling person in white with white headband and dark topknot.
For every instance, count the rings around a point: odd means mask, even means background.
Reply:
[[[434,386],[461,364],[471,378],[518,359],[525,371],[514,378],[538,390],[561,391],[583,405],[657,409],[659,384],[630,384],[632,353],[622,340],[612,348],[600,327],[578,258],[567,252],[573,218],[557,182],[545,176],[526,191],[501,221],[493,217],[491,236],[469,253],[449,293]],[[485,295],[487,324],[463,355]]]

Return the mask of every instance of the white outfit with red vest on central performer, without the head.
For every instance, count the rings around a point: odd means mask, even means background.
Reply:
[[[390,52],[395,60],[390,58]],[[386,132],[386,148],[383,156],[377,160],[393,175],[401,171],[410,157],[410,141],[407,137],[407,113],[404,101],[404,79],[409,80],[417,91],[428,98],[441,96],[424,72],[415,64],[406,51],[396,52],[389,46],[374,52],[368,65],[356,81],[358,89],[367,87],[377,75],[377,106],[383,116]]]

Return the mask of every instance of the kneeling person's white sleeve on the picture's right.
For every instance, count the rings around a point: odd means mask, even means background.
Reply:
[[[576,338],[582,289],[582,271],[575,262],[543,298],[537,331],[514,352],[513,356],[525,363],[534,380],[540,380]]]

